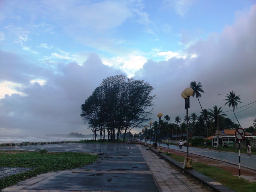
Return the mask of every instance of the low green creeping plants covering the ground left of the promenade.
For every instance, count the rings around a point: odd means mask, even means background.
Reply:
[[[98,156],[75,152],[40,153],[16,151],[15,153],[10,154],[0,153],[0,159],[0,167],[34,168],[27,172],[18,173],[1,179],[1,190],[42,173],[73,169],[91,164],[98,159]]]

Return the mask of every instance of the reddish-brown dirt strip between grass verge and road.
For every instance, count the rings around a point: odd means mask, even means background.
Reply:
[[[176,151],[173,149],[168,149],[168,148],[162,148],[163,152],[170,152],[171,154],[176,154],[176,155],[180,155],[183,157],[186,157],[186,153],[184,152],[180,152],[180,151]],[[218,167],[221,168],[223,170],[226,170],[228,172],[230,172],[232,175],[237,175],[239,172],[239,168],[236,165],[232,165],[229,163],[225,163],[222,161],[216,161],[214,159],[210,159],[207,157],[202,157],[202,156],[198,156],[198,155],[192,155],[189,154],[189,157],[191,157],[193,159],[193,162],[201,162],[207,165],[211,165],[214,167]],[[241,175],[246,175],[246,176],[255,176],[256,175],[256,171],[241,167]]]

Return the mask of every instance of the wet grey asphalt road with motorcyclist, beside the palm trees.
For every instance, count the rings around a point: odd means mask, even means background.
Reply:
[[[147,141],[147,143],[150,144],[150,141]],[[153,142],[151,142],[151,144],[153,144]],[[159,146],[159,143],[158,143],[158,146]],[[167,147],[167,144],[161,143],[161,147]],[[169,148],[180,150],[176,145],[169,145]],[[187,152],[187,148],[184,146],[182,147],[181,150],[184,152]],[[239,165],[239,154],[234,152],[222,152],[222,151],[215,151],[211,149],[189,147],[188,153],[201,155],[204,157],[209,157],[212,159],[217,159],[227,163]],[[256,155],[247,155],[247,154],[241,153],[241,166],[256,170]]]

